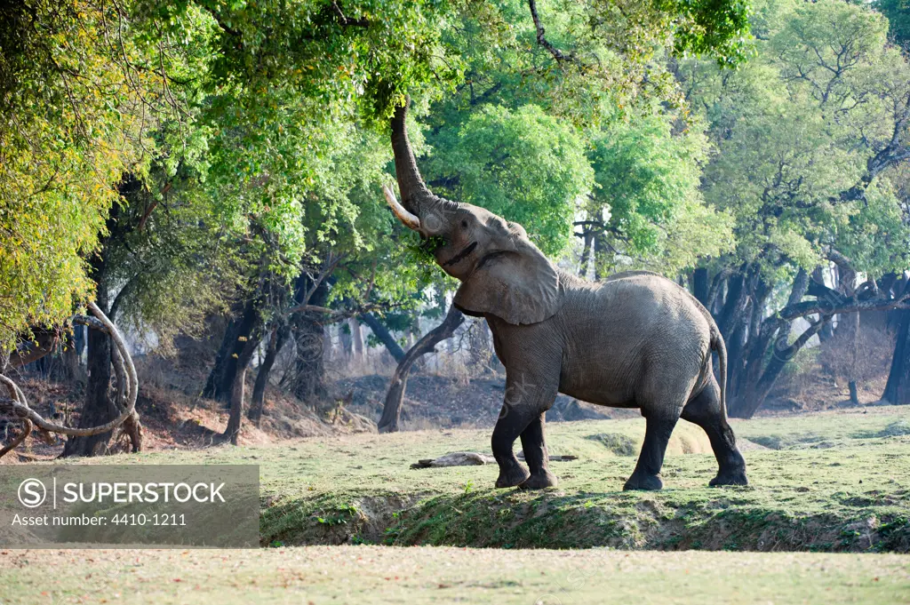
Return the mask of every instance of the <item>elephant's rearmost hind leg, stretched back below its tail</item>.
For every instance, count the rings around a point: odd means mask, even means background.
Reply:
[[[736,436],[721,403],[721,389],[713,377],[710,384],[682,408],[682,419],[702,427],[711,440],[719,469],[710,485],[748,485],[745,460],[736,448]]]

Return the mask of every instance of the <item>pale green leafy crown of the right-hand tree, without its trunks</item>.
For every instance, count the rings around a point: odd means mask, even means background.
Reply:
[[[910,66],[887,45],[885,20],[834,0],[763,2],[755,13],[749,65],[681,69],[717,148],[704,196],[735,217],[738,262],[811,270],[834,246],[860,271],[907,267],[910,230],[890,188],[842,197],[874,178],[870,160],[895,133],[906,136]]]

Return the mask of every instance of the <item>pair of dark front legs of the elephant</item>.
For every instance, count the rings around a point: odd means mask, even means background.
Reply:
[[[493,429],[490,443],[493,458],[500,466],[500,476],[496,479],[497,488],[519,486],[529,479],[534,479],[532,481],[534,485],[529,484],[525,487],[547,487],[542,484],[536,485],[541,482],[541,477],[546,478],[549,475],[546,468],[546,447],[543,443],[541,415],[552,406],[557,388],[558,386],[551,384],[533,384],[529,376],[522,374],[519,377],[513,377],[512,373],[509,373],[506,378],[505,402],[502,404],[500,418],[496,421],[496,428]],[[524,433],[529,429],[531,432],[528,433],[527,439],[528,445],[531,447],[525,447],[524,453],[525,459],[531,466],[531,471],[536,471],[536,475],[532,475],[519,464],[512,449],[515,439],[518,439],[519,436],[522,438],[522,444],[525,443]],[[552,477],[553,485],[555,485],[555,479]]]

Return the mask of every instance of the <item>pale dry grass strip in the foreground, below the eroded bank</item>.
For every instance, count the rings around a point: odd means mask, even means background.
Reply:
[[[910,600],[899,555],[341,546],[14,551],[2,561],[5,605]]]

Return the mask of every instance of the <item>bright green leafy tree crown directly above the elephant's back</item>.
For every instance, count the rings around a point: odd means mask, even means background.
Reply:
[[[733,247],[730,217],[706,207],[699,189],[704,136],[674,126],[672,115],[642,112],[591,136],[597,187],[585,210],[604,224],[613,254],[600,250],[598,262],[611,269],[631,259],[674,276]]]

